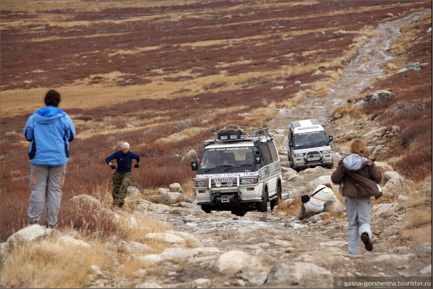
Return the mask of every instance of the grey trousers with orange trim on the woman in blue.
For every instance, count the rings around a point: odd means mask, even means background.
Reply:
[[[34,165],[30,163],[31,195],[28,204],[29,223],[38,223],[47,201],[45,218],[48,225],[57,223],[66,163],[62,165]]]

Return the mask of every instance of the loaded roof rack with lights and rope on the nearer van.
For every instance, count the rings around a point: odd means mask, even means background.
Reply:
[[[247,128],[240,127],[238,125],[228,125],[222,130],[214,133],[210,140],[205,141],[205,146],[208,144],[214,144],[216,142],[227,142],[227,141],[243,141],[267,136],[272,140],[269,135],[268,128]]]

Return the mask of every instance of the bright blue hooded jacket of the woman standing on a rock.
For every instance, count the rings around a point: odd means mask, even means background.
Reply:
[[[38,109],[25,124],[24,136],[30,142],[28,160],[35,165],[61,165],[69,160],[69,143],[75,138],[71,118],[62,109]]]

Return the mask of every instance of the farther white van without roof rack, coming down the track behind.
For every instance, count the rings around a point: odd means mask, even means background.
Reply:
[[[289,163],[296,171],[307,167],[333,167],[332,136],[326,138],[325,130],[317,120],[292,122],[289,126]]]

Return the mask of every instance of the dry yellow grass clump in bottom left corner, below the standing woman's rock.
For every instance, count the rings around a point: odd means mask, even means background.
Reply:
[[[112,257],[101,243],[89,244],[92,248],[71,248],[49,239],[15,247],[2,263],[1,283],[11,288],[83,288],[89,266],[105,268]]]

